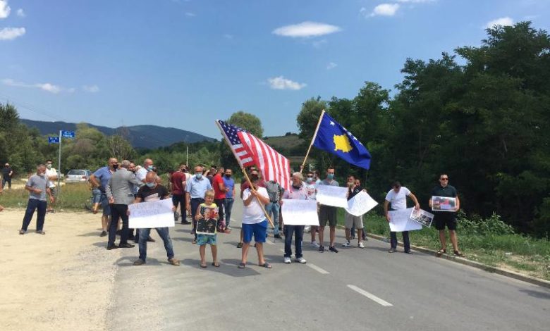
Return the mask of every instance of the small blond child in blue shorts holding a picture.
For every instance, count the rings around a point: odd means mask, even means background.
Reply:
[[[200,204],[197,207],[197,213],[195,214],[195,220],[197,221],[202,219],[215,220],[214,226],[212,227],[212,229],[209,228],[209,230],[207,230],[211,234],[204,235],[204,234],[197,233],[197,244],[200,246],[199,252],[200,252],[201,268],[207,267],[206,258],[204,256],[207,244],[210,244],[210,249],[212,249],[212,260],[213,260],[212,266],[216,268],[219,267],[218,249],[216,247],[216,227],[217,227],[216,223],[219,220],[219,215],[218,213],[212,213],[212,210],[214,208],[218,208],[218,206],[214,204],[214,190],[209,189],[204,194],[204,203]],[[197,223],[197,232],[202,232],[201,230],[204,231],[204,229],[200,228],[200,226]]]

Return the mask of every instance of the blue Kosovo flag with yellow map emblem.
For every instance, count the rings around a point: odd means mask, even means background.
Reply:
[[[328,151],[357,167],[370,168],[370,153],[346,127],[323,113],[313,146]]]

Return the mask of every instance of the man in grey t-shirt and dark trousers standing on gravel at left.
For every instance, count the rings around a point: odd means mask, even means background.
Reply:
[[[44,232],[44,219],[46,218],[47,208],[46,194],[49,196],[49,201],[52,203],[54,202],[54,196],[51,195],[48,187],[46,165],[41,164],[36,167],[36,174],[30,176],[29,180],[27,180],[25,189],[29,192],[29,202],[19,234],[25,235],[30,221],[32,220],[32,216],[34,216],[35,211],[37,211],[36,233],[39,235],[46,235],[46,232]]]

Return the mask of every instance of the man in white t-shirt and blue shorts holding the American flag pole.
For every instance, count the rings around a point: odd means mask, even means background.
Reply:
[[[271,268],[271,265],[264,260],[264,242],[267,236],[267,219],[263,206],[269,204],[269,195],[265,187],[258,186],[259,179],[254,177],[252,187],[243,192],[243,258],[239,268],[245,268],[248,254],[248,247],[254,235],[256,250],[258,252],[258,265],[264,268]],[[263,206],[262,206],[263,205]]]

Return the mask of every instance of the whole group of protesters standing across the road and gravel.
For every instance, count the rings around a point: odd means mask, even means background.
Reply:
[[[108,165],[96,170],[90,177],[92,185],[92,194],[94,196],[94,211],[97,212],[99,204],[102,206],[102,232],[101,237],[109,235],[106,249],[117,248],[132,248],[135,245],[130,244],[128,240],[133,239],[139,248],[139,258],[134,262],[135,266],[146,263],[147,258],[147,242],[154,242],[150,237],[151,229],[136,230],[135,235],[133,230],[128,227],[128,205],[139,204],[145,201],[158,201],[163,199],[172,199],[174,220],[178,221],[181,216],[181,224],[192,224],[191,234],[194,236],[193,244],[200,246],[200,266],[207,267],[205,259],[205,247],[211,245],[212,249],[212,265],[218,267],[216,250],[216,235],[197,234],[197,222],[204,215],[201,208],[217,208],[216,227],[224,233],[231,232],[231,209],[236,194],[235,181],[232,178],[233,172],[231,169],[212,167],[209,170],[204,170],[201,165],[193,168],[193,173],[189,173],[185,163],[182,163],[178,170],[169,174],[169,187],[161,185],[161,179],[157,175],[154,163],[147,158],[142,166],[135,166],[128,160],[123,160],[121,163],[116,158],[109,158]],[[38,213],[36,232],[44,235],[44,217],[47,211],[47,196],[49,201],[53,203],[54,198],[54,180],[57,178],[56,170],[51,168],[51,161],[46,164],[37,166],[37,173],[30,176],[25,185],[25,189],[29,191],[29,201],[27,210],[23,218],[23,225],[19,231],[20,235],[27,232],[27,227],[30,224],[35,211]],[[252,185],[250,185],[252,184]],[[338,253],[336,249],[336,213],[337,209],[334,206],[318,205],[319,226],[305,227],[304,225],[283,225],[281,219],[281,208],[284,199],[302,199],[315,200],[317,189],[320,185],[339,186],[335,179],[334,168],[326,170],[326,177],[321,180],[319,173],[311,171],[306,173],[305,182],[302,173],[296,172],[291,177],[290,189],[283,189],[280,183],[274,181],[264,182],[260,179],[259,171],[256,168],[250,168],[249,173],[243,178],[240,184],[241,199],[243,199],[243,221],[240,232],[240,242],[238,247],[242,249],[241,262],[239,268],[245,268],[247,264],[247,252],[250,248],[252,238],[255,240],[255,248],[258,255],[259,266],[271,268],[271,265],[264,259],[263,243],[268,235],[268,217],[272,220],[273,236],[282,239],[280,231],[281,227],[284,235],[285,249],[283,261],[291,263],[292,256],[292,239],[294,237],[295,246],[295,262],[306,263],[307,261],[302,255],[302,241],[305,231],[311,233],[311,245],[318,249],[319,252],[325,251],[324,246],[324,229],[326,224],[329,224],[329,240],[328,251]],[[348,200],[359,194],[365,189],[361,186],[358,178],[348,176]],[[407,208],[406,197],[415,204],[415,208],[419,209],[420,204],[414,194],[406,187],[402,187],[400,182],[394,182],[392,189],[386,194],[384,201],[384,215],[386,220],[391,222],[389,208],[399,210]],[[448,185],[448,175],[442,174],[439,177],[439,185],[434,187],[432,196],[448,196],[456,198],[456,206],[453,211],[439,212],[434,211],[434,224],[439,230],[439,238],[441,241],[441,249],[438,255],[446,254],[446,235],[445,227],[448,228],[453,244],[453,252],[457,256],[464,256],[458,250],[458,241],[456,237],[456,211],[460,208],[460,202],[456,189]],[[432,206],[432,199],[429,200],[429,206]],[[180,208],[180,213],[178,213]],[[1,207],[0,207],[1,211]],[[187,221],[187,216],[190,216],[192,222]],[[117,230],[121,221],[121,230]],[[365,248],[363,241],[365,240],[364,225],[362,216],[353,216],[346,212],[345,218],[346,227],[346,242],[342,245],[345,247],[351,246],[351,240],[357,230],[357,247]],[[168,227],[155,228],[159,237],[161,237],[169,263],[178,266],[180,261],[174,257],[173,244],[169,235]],[[116,235],[120,234],[120,241],[116,245]],[[317,235],[319,241],[317,242]],[[403,244],[405,253],[411,254],[410,241],[408,232],[403,232]],[[391,232],[391,248],[390,253],[397,249],[397,234]]]

